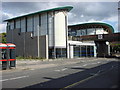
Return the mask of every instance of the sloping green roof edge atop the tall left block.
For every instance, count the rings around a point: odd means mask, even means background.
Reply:
[[[44,12],[50,12],[50,11],[56,11],[56,10],[67,10],[69,12],[72,8],[73,8],[72,6],[64,6],[64,7],[52,8],[52,9],[42,10],[42,11],[38,11],[38,12],[26,14],[26,15],[14,17],[14,18],[7,19],[7,20],[4,20],[4,21],[10,21],[10,20],[25,17],[25,16],[30,16],[30,15],[34,15],[34,14],[38,14],[38,13],[44,13]]]

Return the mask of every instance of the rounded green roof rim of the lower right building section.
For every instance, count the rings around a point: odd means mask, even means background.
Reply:
[[[104,28],[109,28],[109,30],[114,33],[114,29],[111,25],[107,24],[107,23],[101,23],[101,22],[92,22],[92,23],[83,23],[83,24],[75,24],[75,25],[69,25],[69,27],[83,27],[83,28],[86,28],[86,27],[96,27],[96,26],[102,26]]]

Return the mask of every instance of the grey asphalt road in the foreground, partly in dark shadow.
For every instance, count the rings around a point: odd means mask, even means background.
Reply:
[[[79,60],[79,59],[78,59]],[[2,73],[2,88],[118,88],[120,61],[98,59]]]

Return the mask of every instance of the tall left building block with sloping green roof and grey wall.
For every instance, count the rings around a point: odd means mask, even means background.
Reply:
[[[5,20],[7,42],[16,44],[17,56],[66,57],[67,12],[72,8],[53,8]]]

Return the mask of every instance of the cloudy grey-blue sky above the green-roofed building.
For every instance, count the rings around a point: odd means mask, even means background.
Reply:
[[[118,31],[118,2],[2,2],[2,21],[12,17],[61,6],[73,6],[68,13],[68,25],[104,22]],[[0,33],[6,32],[6,23],[0,22]]]

